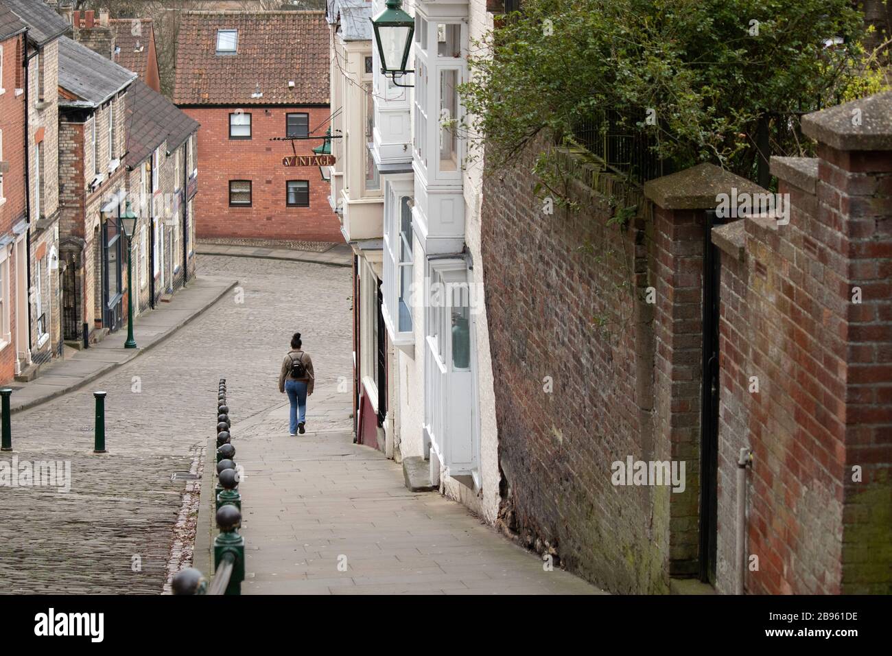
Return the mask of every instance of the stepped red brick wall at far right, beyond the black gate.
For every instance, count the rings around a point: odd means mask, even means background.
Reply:
[[[741,446],[753,451],[748,593],[888,594],[892,584],[892,154],[819,154],[816,179],[779,173],[789,225],[745,220],[744,262],[723,253],[723,592],[739,566]]]

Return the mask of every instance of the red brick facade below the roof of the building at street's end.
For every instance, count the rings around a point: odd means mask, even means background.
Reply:
[[[198,195],[195,198],[197,237],[290,239],[343,242],[340,223],[328,204],[328,183],[318,167],[289,168],[282,165],[293,154],[291,144],[269,141],[285,137],[285,114],[307,112],[310,130],[324,134],[331,110],[322,108],[242,107],[252,114],[252,138],[229,138],[232,108],[184,108],[202,124],[198,131]],[[297,154],[312,154],[321,140],[293,142]],[[229,206],[229,180],[252,180],[252,207]],[[310,207],[285,204],[285,181],[310,181]]]

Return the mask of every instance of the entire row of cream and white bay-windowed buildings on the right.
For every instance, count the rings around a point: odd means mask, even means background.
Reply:
[[[384,2],[333,2],[332,203],[356,257],[358,437],[402,462],[411,489],[439,489],[494,523],[500,467],[483,312],[483,168],[450,120],[464,111],[469,45],[486,4],[404,4],[406,68],[384,75],[360,21]],[[407,30],[408,32],[408,30]],[[442,117],[449,117],[443,120]]]

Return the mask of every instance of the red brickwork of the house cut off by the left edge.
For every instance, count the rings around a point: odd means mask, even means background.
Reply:
[[[4,197],[6,202],[0,206],[0,235],[9,234],[16,222],[25,218],[25,95],[16,97],[16,87],[21,87],[24,71],[17,61],[21,56],[21,36],[6,39],[0,45],[4,48],[3,79],[0,88],[6,89],[0,95],[0,129],[3,130],[3,157],[0,160],[9,162],[10,169],[3,174]],[[6,300],[10,312],[10,334],[12,344],[0,351],[0,383],[12,380],[15,373],[15,255],[9,256],[9,291]],[[27,292],[25,292],[27,294]],[[27,317],[24,319],[28,320]]]

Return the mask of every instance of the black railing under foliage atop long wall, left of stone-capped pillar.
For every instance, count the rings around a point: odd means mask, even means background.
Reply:
[[[668,162],[657,152],[657,125],[648,113],[601,110],[579,120],[572,140],[616,174],[642,185],[669,173]]]

